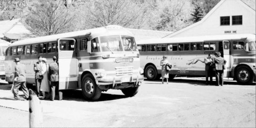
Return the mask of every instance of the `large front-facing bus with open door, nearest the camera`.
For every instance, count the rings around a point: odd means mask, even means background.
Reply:
[[[20,58],[26,65],[27,84],[35,84],[33,64],[38,56],[48,63],[57,56],[59,90],[81,89],[86,100],[98,100],[101,92],[109,89],[134,96],[144,80],[133,34],[116,25],[12,43],[6,50],[5,79],[12,81],[13,60]]]

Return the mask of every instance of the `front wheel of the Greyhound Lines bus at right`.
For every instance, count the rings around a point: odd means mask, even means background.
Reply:
[[[236,81],[242,85],[251,84],[255,78],[252,71],[247,67],[239,67],[236,72]]]

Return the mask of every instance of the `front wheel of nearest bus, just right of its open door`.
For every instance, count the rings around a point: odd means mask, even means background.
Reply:
[[[86,74],[81,84],[85,100],[97,101],[101,97],[101,89],[96,85],[95,79],[91,74]]]

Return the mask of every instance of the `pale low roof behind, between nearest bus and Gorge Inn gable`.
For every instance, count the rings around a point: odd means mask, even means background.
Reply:
[[[131,29],[131,28],[127,28],[127,29],[128,31],[133,33],[135,40],[160,38],[172,33],[168,31],[154,31],[154,30]]]

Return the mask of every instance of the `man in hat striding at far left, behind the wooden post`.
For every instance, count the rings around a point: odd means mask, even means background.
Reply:
[[[19,88],[21,87],[21,90],[23,91],[26,100],[28,100],[28,90],[26,87],[26,67],[24,64],[20,63],[19,58],[15,58],[14,62],[16,63],[15,77],[17,78],[16,81],[14,81],[14,86],[13,86],[14,99],[22,100],[19,97]]]

